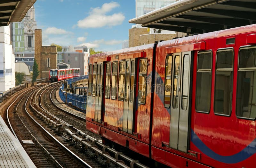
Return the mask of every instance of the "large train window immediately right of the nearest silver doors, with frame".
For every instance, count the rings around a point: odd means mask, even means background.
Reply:
[[[197,55],[196,111],[209,113],[212,86],[212,52]]]

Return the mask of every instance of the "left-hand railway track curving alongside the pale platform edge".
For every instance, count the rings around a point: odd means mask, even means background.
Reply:
[[[46,124],[43,125],[44,129],[33,119],[36,116],[32,113],[29,102],[33,99],[31,95],[38,89],[35,87],[21,93],[7,110],[10,125],[29,157],[36,167],[91,167],[56,141],[46,129],[52,134],[58,132]]]

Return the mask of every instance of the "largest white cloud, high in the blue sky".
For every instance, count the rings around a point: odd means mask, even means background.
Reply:
[[[96,28],[104,26],[116,26],[123,23],[125,17],[122,13],[114,13],[113,15],[106,15],[107,12],[119,7],[116,2],[104,3],[102,7],[91,8],[90,15],[83,20],[77,22],[80,28]]]

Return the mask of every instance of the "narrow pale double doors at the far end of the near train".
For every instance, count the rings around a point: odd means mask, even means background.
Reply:
[[[96,64],[95,64],[96,65]],[[97,72],[96,72],[96,94],[95,94],[95,111],[94,111],[94,120],[101,122],[101,107],[102,107],[102,95],[103,95],[103,62],[97,63]]]

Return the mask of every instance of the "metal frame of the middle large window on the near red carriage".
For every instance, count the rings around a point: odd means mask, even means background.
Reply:
[[[233,57],[232,57],[232,68],[217,68],[217,55],[218,55],[218,52],[223,52],[223,51],[232,51],[233,52]],[[234,58],[235,58],[235,50],[233,47],[228,47],[228,48],[219,48],[217,51],[216,51],[216,55],[215,55],[215,76],[214,76],[214,95],[213,95],[213,113],[214,115],[220,115],[220,116],[225,116],[225,117],[230,117],[231,114],[232,114],[232,105],[231,105],[231,111],[230,111],[230,114],[229,115],[226,115],[226,114],[220,114],[220,113],[215,113],[215,87],[216,87],[216,72],[233,72],[233,80],[232,80],[232,90],[233,90],[233,84],[234,84]],[[234,92],[234,90],[233,90]],[[231,104],[233,104],[233,92],[232,92],[232,97],[230,99],[231,101]]]

